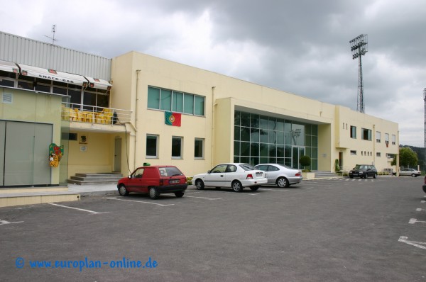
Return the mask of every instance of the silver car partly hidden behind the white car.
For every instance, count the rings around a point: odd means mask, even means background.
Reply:
[[[265,171],[268,184],[276,185],[280,188],[298,184],[302,181],[302,171],[287,167],[284,164],[258,164],[255,167]]]

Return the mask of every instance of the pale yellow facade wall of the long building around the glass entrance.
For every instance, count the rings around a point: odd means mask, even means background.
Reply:
[[[133,119],[129,128],[128,152],[130,166],[143,162],[172,164],[185,174],[193,175],[211,169],[219,162],[233,161],[234,111],[247,111],[318,125],[318,169],[334,171],[334,160],[343,153],[344,167],[357,163],[375,163],[378,169],[388,167],[386,154],[398,153],[395,147],[383,147],[373,141],[351,140],[342,123],[398,135],[398,124],[349,108],[323,103],[277,89],[253,84],[241,79],[170,62],[138,52],[115,57],[111,77],[114,91],[111,106],[129,108]],[[205,97],[204,116],[182,114],[182,126],[165,125],[164,112],[149,109],[148,86],[182,91]],[[373,133],[373,134],[374,134]],[[159,155],[146,158],[146,136],[158,135]],[[359,133],[359,136],[361,133]],[[171,158],[173,136],[183,137],[182,159]],[[194,140],[204,139],[204,159],[195,159]],[[351,150],[363,152],[353,156]],[[381,150],[382,158],[376,158]],[[365,152],[367,156],[364,156]],[[374,152],[374,155],[373,155]]]

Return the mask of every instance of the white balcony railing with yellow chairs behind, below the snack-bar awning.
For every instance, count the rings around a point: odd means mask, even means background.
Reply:
[[[80,123],[120,124],[130,122],[131,111],[65,102],[61,118]]]

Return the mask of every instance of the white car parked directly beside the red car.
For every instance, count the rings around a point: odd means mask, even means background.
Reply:
[[[256,191],[259,186],[268,182],[265,173],[256,169],[251,164],[228,163],[218,164],[205,174],[197,174],[192,177],[192,185],[198,190],[204,186],[231,187],[235,192],[243,191],[244,187],[250,187]]]

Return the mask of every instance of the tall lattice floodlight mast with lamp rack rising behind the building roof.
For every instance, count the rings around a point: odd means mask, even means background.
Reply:
[[[364,84],[362,81],[362,64],[361,57],[366,55],[367,52],[367,35],[361,34],[356,38],[349,41],[351,44],[352,59],[359,58],[359,67],[358,67],[358,100],[356,103],[356,111],[364,113]]]

